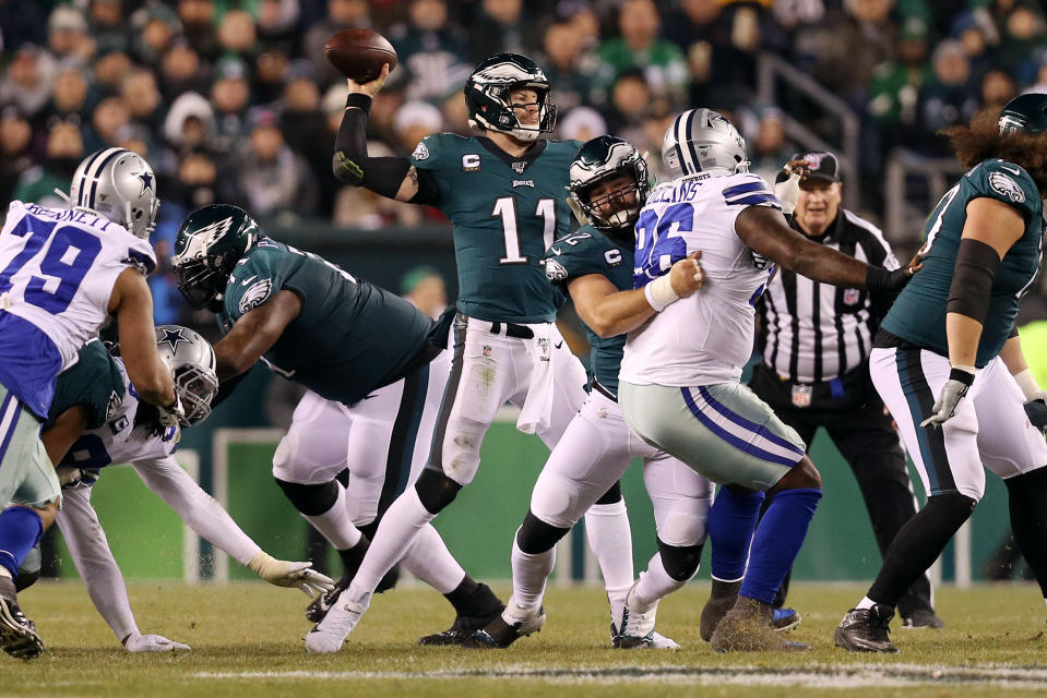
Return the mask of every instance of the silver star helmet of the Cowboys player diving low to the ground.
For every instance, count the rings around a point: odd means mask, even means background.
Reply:
[[[214,349],[189,327],[159,325],[156,349],[175,374],[175,393],[186,410],[190,424],[211,414],[211,400],[218,392]]]

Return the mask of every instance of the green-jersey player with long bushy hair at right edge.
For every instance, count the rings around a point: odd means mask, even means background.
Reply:
[[[1026,417],[1043,413],[1047,393],[1014,329],[1043,248],[1047,95],[1022,95],[944,134],[971,169],[928,218],[923,269],[884,317],[869,363],[928,498],[836,628],[850,651],[897,651],[894,607],[971,516],[984,469],[1007,485],[1014,538],[1047,601],[1045,424]]]

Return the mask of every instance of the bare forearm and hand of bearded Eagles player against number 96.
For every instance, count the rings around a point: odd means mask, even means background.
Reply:
[[[687,298],[705,285],[704,276],[694,273],[694,262],[701,254],[693,252],[669,269],[669,282],[678,298]],[[603,274],[571,279],[568,292],[582,322],[605,339],[631,332],[657,313],[643,289],[619,291]]]

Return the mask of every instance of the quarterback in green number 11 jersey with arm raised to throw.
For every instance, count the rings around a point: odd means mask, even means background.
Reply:
[[[561,294],[545,278],[544,256],[568,231],[563,190],[581,143],[539,139],[556,124],[556,105],[542,69],[525,56],[499,53],[480,62],[465,84],[469,125],[481,135],[429,135],[405,157],[370,157],[365,130],[377,80],[349,81],[335,142],[334,174],[402,202],[436,206],[453,226],[459,270],[454,357],[429,464],[386,517],[349,594],[306,649],[342,647],[366,611],[374,585],[430,521],[472,482],[495,413],[507,401],[521,408],[517,428],[550,448],[585,398],[584,371],[554,324]],[[632,564],[620,496],[614,514],[587,517],[600,567]],[[461,625],[461,624],[460,624]],[[452,628],[452,630],[469,628]]]

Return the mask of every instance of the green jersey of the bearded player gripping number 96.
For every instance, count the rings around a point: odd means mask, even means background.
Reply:
[[[630,242],[622,245],[593,226],[585,225],[557,240],[546,252],[545,273],[550,281],[567,287],[571,279],[588,274],[607,277],[619,291],[632,290],[632,267],[635,251]],[[615,397],[618,396],[618,372],[626,347],[626,335],[600,337],[584,322],[585,336],[592,347],[592,378]]]

